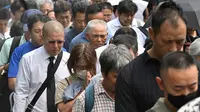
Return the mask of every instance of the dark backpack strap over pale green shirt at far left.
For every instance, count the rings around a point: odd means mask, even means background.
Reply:
[[[14,51],[14,49],[19,46],[19,42],[20,42],[21,36],[15,36],[13,37],[13,41],[10,47],[10,52],[9,52],[9,58],[8,58],[8,62],[10,61],[11,55]]]

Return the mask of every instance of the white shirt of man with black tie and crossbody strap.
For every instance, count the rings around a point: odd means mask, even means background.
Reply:
[[[14,93],[13,112],[25,112],[36,92],[47,77],[50,56],[44,46],[25,54],[19,64]],[[56,58],[56,57],[55,57]],[[69,76],[67,60],[69,53],[63,52],[62,60],[55,73],[55,84]],[[32,112],[47,112],[46,89],[36,102]]]

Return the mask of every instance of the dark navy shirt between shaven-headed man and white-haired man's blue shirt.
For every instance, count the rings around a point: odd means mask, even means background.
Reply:
[[[80,32],[76,31],[75,28],[68,29],[65,31],[65,43],[64,43],[64,48],[68,51],[69,50],[69,45],[70,42],[74,37],[76,37]]]

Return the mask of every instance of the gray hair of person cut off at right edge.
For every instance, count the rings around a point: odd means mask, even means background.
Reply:
[[[189,54],[192,56],[200,56],[200,38],[192,42],[189,47]]]

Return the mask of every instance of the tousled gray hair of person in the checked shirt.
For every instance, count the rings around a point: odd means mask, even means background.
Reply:
[[[110,44],[99,58],[101,72],[107,76],[109,72],[119,72],[125,65],[133,59],[129,49],[120,44],[118,46]]]

